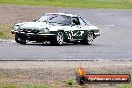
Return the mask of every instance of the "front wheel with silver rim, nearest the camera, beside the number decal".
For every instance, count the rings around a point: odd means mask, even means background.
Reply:
[[[63,32],[59,31],[56,35],[56,38],[51,41],[51,45],[61,46],[63,45],[63,42],[64,42]]]

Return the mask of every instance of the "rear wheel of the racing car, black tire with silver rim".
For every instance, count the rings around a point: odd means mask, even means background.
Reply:
[[[85,39],[82,41],[82,44],[84,45],[91,45],[94,39],[94,33],[92,31],[89,31],[86,33]]]

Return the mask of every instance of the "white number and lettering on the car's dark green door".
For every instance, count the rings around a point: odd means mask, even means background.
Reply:
[[[84,34],[84,31],[68,31],[68,39],[73,39],[73,37],[81,37]]]

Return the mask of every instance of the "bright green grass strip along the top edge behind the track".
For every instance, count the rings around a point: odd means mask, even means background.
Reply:
[[[0,4],[132,9],[132,0],[0,0]]]

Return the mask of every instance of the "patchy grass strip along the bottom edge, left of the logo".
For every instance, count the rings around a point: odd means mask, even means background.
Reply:
[[[53,83],[30,83],[30,84],[15,84],[15,83],[0,83],[0,88],[82,88],[76,80],[56,81]]]

